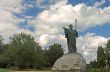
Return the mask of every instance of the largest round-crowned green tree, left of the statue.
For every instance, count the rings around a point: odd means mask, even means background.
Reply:
[[[25,33],[15,34],[10,38],[6,56],[9,66],[19,68],[33,67],[35,63],[35,50],[39,47],[34,38]]]

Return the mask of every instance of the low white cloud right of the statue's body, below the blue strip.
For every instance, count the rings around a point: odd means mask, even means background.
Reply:
[[[77,39],[78,52],[83,54],[87,63],[89,63],[90,60],[96,59],[98,46],[105,47],[108,39],[110,38],[98,36],[94,33],[87,33],[85,36],[80,36]]]

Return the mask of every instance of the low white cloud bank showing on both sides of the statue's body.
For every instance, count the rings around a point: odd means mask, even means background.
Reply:
[[[86,58],[87,63],[89,63],[90,60],[96,59],[98,46],[104,47],[108,39],[109,38],[97,36],[94,33],[87,33],[85,36],[80,36],[77,39],[78,53],[81,53]],[[67,52],[68,49],[64,35],[43,34],[39,38],[39,43],[44,48],[48,48],[54,43],[59,43],[65,52]]]

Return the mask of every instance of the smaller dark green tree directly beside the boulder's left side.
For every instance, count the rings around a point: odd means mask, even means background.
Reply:
[[[64,51],[60,44],[54,44],[49,46],[49,49],[45,51],[45,54],[48,57],[50,66],[53,66],[55,61],[64,54]]]

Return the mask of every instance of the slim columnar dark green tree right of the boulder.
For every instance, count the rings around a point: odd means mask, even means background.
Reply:
[[[105,66],[105,53],[102,46],[99,46],[97,50],[97,63],[98,63],[98,67]]]

